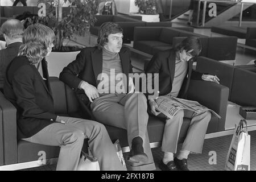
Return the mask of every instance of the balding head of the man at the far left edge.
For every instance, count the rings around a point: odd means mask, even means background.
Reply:
[[[8,19],[2,24],[1,31],[7,38],[20,39],[23,36],[24,27],[22,22],[18,19]]]

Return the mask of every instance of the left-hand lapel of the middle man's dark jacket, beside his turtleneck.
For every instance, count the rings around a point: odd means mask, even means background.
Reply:
[[[97,77],[102,73],[102,49],[96,48],[92,52],[92,65],[94,76],[96,79],[96,85],[98,85],[100,80],[97,80]]]

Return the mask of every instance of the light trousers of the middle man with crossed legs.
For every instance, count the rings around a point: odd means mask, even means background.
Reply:
[[[134,137],[141,137],[148,162],[154,162],[147,135],[147,99],[143,93],[107,94],[96,98],[90,107],[98,122],[126,129],[130,147]]]

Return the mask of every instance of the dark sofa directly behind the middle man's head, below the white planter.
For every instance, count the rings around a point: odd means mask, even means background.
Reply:
[[[147,26],[160,26],[160,27],[171,27],[171,22],[143,22],[142,16],[130,15],[130,16],[120,16],[120,15],[96,15],[97,22],[93,27],[90,27],[90,33],[98,36],[98,31],[100,31],[100,26],[105,22],[115,22],[118,23],[123,28],[123,42],[130,43],[133,41],[134,37],[134,27],[147,27]],[[193,31],[192,27],[178,27],[178,29]]]

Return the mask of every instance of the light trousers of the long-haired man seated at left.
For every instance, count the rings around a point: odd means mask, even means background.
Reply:
[[[76,171],[84,139],[88,138],[89,147],[93,156],[98,159],[101,170],[124,170],[104,125],[80,118],[60,118],[66,124],[52,123],[32,137],[23,140],[60,146],[56,170]]]

